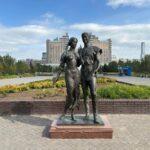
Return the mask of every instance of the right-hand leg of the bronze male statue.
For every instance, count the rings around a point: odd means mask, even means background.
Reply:
[[[91,98],[92,98],[92,109],[93,109],[94,123],[97,123],[96,78],[95,77],[91,78],[89,86],[90,86],[90,94],[91,94]]]

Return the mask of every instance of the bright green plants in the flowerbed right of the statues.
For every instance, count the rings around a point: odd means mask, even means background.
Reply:
[[[107,87],[97,89],[97,95],[100,98],[109,99],[149,99],[150,87],[113,83]]]

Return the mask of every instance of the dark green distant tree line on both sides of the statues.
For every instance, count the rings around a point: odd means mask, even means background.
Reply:
[[[150,55],[146,55],[144,59],[140,60],[127,60],[118,62],[112,61],[109,64],[102,66],[102,72],[118,72],[118,67],[129,66],[135,73],[150,73]],[[5,74],[24,74],[35,72],[57,72],[58,67],[41,65],[40,63],[28,64],[25,61],[16,60],[9,55],[0,56],[0,75]]]

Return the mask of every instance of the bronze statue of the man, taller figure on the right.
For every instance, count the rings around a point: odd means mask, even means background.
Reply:
[[[84,107],[85,107],[85,119],[89,119],[89,104],[87,101],[88,88],[90,89],[92,99],[92,109],[94,123],[97,121],[97,110],[96,110],[96,72],[100,67],[100,54],[102,50],[96,46],[89,45],[90,35],[89,33],[82,33],[82,41],[84,47],[79,49],[79,55],[81,59],[81,85],[83,90]]]

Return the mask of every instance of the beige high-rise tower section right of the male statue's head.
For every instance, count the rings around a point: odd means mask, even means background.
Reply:
[[[91,34],[90,45],[97,46],[103,50],[100,56],[101,64],[108,64],[112,59],[112,41],[108,39],[106,41],[100,41],[97,36]]]

